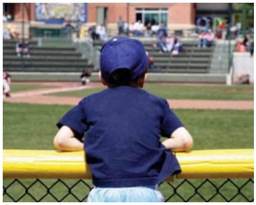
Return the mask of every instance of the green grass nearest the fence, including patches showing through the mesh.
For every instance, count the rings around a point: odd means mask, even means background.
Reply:
[[[55,149],[52,146],[52,140],[57,132],[56,122],[63,116],[63,114],[70,109],[71,106],[61,105],[28,105],[28,104],[12,104],[3,103],[3,149]],[[194,110],[194,109],[176,109],[175,113],[184,125],[190,131],[194,138],[194,150],[199,149],[253,149],[253,110],[251,111],[233,111],[233,110]],[[26,186],[34,183],[35,180],[21,180]],[[63,180],[67,184],[75,184],[77,180]],[[8,186],[11,180],[3,180],[3,186]],[[51,193],[57,195],[61,199],[68,193],[68,188],[61,182],[57,185],[52,185],[56,180],[43,180],[46,186],[51,188]],[[171,183],[177,187],[181,180],[175,180]],[[193,186],[201,186],[204,180],[190,180]],[[211,180],[215,186],[221,186],[224,180]],[[237,185],[242,186],[244,180],[235,180]],[[90,180],[86,180],[90,186]],[[228,199],[235,195],[237,189],[230,186],[230,182],[221,188],[221,194]],[[19,198],[24,191],[23,187],[15,183],[12,194]],[[46,188],[39,182],[33,185],[34,188],[30,193],[37,199],[40,199],[45,193]],[[177,188],[177,193],[183,195],[188,199],[195,193],[195,190],[188,182]],[[79,188],[80,187],[80,188]],[[167,198],[173,193],[173,188],[167,183],[161,184],[160,190]],[[88,188],[84,187],[82,183],[72,188],[72,193],[75,193],[79,199],[83,199],[88,194]],[[199,189],[199,193],[209,199],[215,194],[213,186],[207,182]],[[253,185],[242,188],[242,193],[253,198]],[[244,197],[234,199],[235,202],[245,202]],[[7,195],[3,196],[3,202],[10,202]],[[33,199],[27,195],[21,202],[32,202]],[[74,202],[75,197],[70,195],[63,200],[63,202]],[[200,202],[201,197],[198,195],[193,197],[193,202]],[[48,195],[43,199],[43,202],[55,202],[55,199]],[[181,199],[175,195],[170,199],[170,202],[181,202]],[[217,195],[213,202],[224,202],[224,199]]]

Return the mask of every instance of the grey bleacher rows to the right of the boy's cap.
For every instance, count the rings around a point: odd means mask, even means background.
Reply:
[[[178,55],[170,52],[160,53],[152,46],[154,41],[141,41],[147,52],[155,60],[154,72],[169,73],[201,73],[210,71],[210,62],[213,56],[213,47],[197,47],[197,41],[183,41],[183,51]],[[94,46],[100,49],[103,43],[95,41]]]

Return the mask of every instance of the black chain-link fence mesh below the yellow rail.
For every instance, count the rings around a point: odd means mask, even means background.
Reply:
[[[253,179],[159,184],[166,202],[254,202]],[[91,180],[3,180],[3,202],[86,202]]]

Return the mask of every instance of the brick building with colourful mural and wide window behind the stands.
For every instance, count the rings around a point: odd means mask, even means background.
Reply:
[[[34,28],[61,28],[65,21],[104,23],[109,34],[117,34],[117,21],[138,19],[147,23],[164,23],[171,31],[193,31],[196,25],[217,28],[218,21],[236,25],[236,3],[3,3],[3,13],[14,22],[26,22]],[[5,25],[5,23],[4,23]],[[19,26],[21,27],[21,26]],[[26,27],[26,28],[27,28]]]

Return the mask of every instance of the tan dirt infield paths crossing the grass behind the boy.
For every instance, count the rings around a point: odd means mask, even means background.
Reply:
[[[36,89],[30,91],[19,91],[12,94],[11,98],[3,98],[3,102],[31,103],[46,105],[77,105],[81,98],[66,96],[46,96],[61,91],[72,91],[81,89],[92,89],[102,87],[100,83],[90,83],[81,86],[79,83],[15,83],[16,85],[51,85],[50,88]],[[168,99],[173,109],[254,109],[253,100],[175,100]]]

